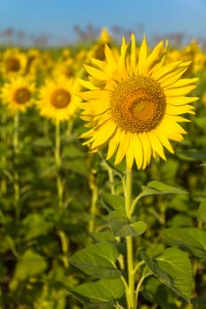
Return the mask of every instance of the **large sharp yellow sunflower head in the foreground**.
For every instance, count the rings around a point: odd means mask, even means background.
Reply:
[[[146,37],[137,49],[132,34],[129,52],[128,46],[123,37],[119,54],[105,45],[105,61],[93,58],[92,65],[85,65],[90,76],[80,80],[88,89],[80,93],[86,101],[80,103],[80,117],[89,129],[81,138],[88,139],[84,144],[93,153],[107,146],[106,160],[116,155],[118,164],[126,157],[128,169],[134,161],[145,169],[152,157],[166,160],[164,147],[174,153],[170,139],[180,141],[187,133],[179,122],[189,121],[182,114],[195,114],[189,103],[197,97],[186,95],[197,79],[181,78],[189,62],[164,64],[167,41],[149,52]]]

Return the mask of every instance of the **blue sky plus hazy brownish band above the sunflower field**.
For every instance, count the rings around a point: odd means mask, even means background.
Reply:
[[[0,4],[0,44],[62,46],[92,41],[106,26],[117,39],[134,32],[206,44],[205,0],[7,0]]]

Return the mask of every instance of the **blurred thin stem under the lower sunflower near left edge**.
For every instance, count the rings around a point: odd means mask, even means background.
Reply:
[[[16,208],[16,218],[19,219],[20,216],[20,186],[19,186],[19,113],[14,115],[13,119],[13,190],[14,190],[14,203]]]

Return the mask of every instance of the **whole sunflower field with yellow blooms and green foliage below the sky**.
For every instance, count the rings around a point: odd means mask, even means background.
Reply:
[[[0,51],[0,308],[206,308],[206,52],[107,29]]]

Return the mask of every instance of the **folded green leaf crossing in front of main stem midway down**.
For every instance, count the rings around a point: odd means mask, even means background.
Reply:
[[[114,236],[139,236],[147,228],[144,222],[129,223],[126,214],[120,211],[111,211],[109,214],[109,222]]]

